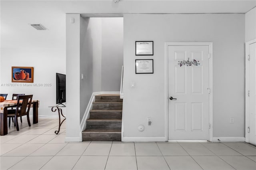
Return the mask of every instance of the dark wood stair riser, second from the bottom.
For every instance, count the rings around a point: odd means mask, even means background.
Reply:
[[[121,121],[88,121],[86,129],[121,129]]]

